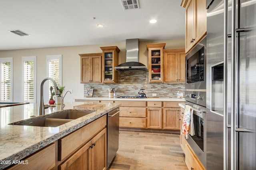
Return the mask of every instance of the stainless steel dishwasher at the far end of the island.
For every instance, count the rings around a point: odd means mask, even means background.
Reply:
[[[114,159],[119,145],[119,108],[108,112],[107,168]]]

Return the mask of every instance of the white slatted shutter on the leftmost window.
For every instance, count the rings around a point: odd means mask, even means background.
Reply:
[[[1,100],[11,101],[11,62],[1,62]]]

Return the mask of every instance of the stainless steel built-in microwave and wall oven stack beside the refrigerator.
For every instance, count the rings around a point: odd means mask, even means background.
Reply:
[[[193,110],[195,135],[187,142],[206,167],[206,37],[186,55],[185,105]]]

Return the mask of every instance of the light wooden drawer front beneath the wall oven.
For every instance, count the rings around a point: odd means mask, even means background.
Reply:
[[[204,170],[204,168],[200,165],[193,152],[190,150],[188,144],[186,144],[185,148],[185,163],[190,170]]]

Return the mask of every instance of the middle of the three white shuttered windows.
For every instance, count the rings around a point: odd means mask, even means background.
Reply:
[[[36,56],[22,57],[24,102],[36,103]]]

